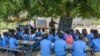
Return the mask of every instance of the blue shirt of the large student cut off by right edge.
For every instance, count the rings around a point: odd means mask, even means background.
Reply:
[[[100,38],[93,39],[91,46],[95,52],[100,52]]]

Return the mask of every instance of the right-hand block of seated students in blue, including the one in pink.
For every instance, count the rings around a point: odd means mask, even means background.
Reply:
[[[52,34],[50,31],[43,37],[41,41],[42,56],[66,56],[67,53],[71,56],[100,56],[100,34],[98,30],[91,29],[90,34],[86,29],[79,30],[66,29],[66,31],[57,30],[57,33]],[[87,54],[87,50],[91,48],[91,55]]]

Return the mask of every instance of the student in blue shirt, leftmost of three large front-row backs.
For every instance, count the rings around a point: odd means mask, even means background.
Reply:
[[[41,56],[51,56],[51,41],[48,39],[48,35],[44,34],[43,35],[43,40],[40,42],[40,48],[41,48]]]

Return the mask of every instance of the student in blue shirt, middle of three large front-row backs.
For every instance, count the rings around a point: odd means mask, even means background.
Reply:
[[[63,40],[63,34],[59,33],[59,39],[54,43],[54,51],[56,56],[66,56],[66,50],[68,45],[66,41]]]

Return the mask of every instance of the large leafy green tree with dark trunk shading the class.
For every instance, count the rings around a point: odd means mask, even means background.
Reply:
[[[28,17],[60,16],[63,30],[71,28],[74,17],[100,17],[100,0],[0,0],[0,6],[0,17],[16,16],[23,10],[28,11]]]

